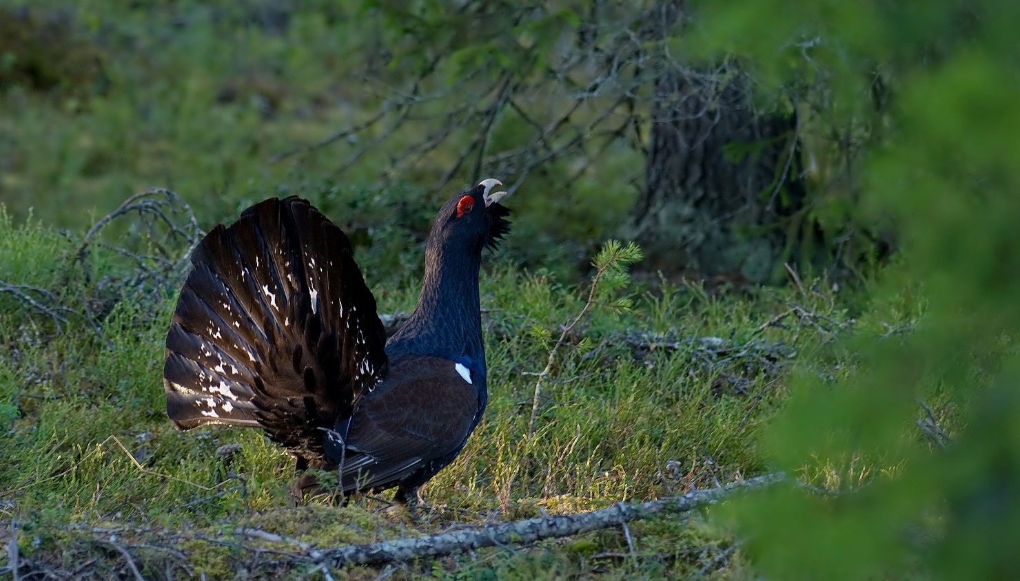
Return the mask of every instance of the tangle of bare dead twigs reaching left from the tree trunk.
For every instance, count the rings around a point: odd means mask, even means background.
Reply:
[[[470,10],[472,4],[463,3],[455,10],[451,25],[457,25],[456,14]],[[533,18],[531,12],[504,7],[494,9],[489,17],[512,28]],[[365,105],[373,107],[374,103],[377,112],[317,143],[277,153],[270,162],[345,140],[358,143],[341,164],[341,173],[369,151],[380,150],[381,142],[393,136],[394,142],[404,145],[389,155],[391,163],[384,164],[378,175],[382,183],[435,163],[436,167],[427,167],[438,176],[434,192],[458,177],[477,179],[482,174],[498,174],[505,176],[510,183],[508,191],[513,193],[528,175],[550,163],[567,160],[576,170],[565,179],[557,179],[562,183],[553,187],[569,188],[580,175],[597,168],[598,160],[613,144],[643,147],[642,140],[628,141],[627,134],[630,127],[640,130],[642,120],[649,118],[649,105],[659,98],[649,91],[657,74],[669,70],[703,81],[691,84],[693,88],[715,86],[726,78],[725,67],[701,72],[680,65],[669,54],[664,41],[670,38],[669,31],[677,30],[675,18],[645,8],[592,14],[598,17],[583,24],[583,41],[572,48],[560,44],[534,48],[509,60],[486,56],[452,83],[446,66],[455,62],[458,54],[452,44],[434,46],[434,39],[429,39],[434,56],[412,65],[415,69],[400,81],[392,81],[394,75],[389,73],[384,77],[373,64],[373,56],[385,60],[394,57],[379,45],[379,53],[370,55],[358,73],[362,85],[370,88]],[[626,111],[619,110],[621,103],[627,104]],[[515,143],[498,143],[494,137],[506,110],[513,111],[530,135],[515,138]],[[706,109],[698,114],[709,113]],[[470,176],[465,175],[468,172]],[[635,170],[633,176],[641,173]]]

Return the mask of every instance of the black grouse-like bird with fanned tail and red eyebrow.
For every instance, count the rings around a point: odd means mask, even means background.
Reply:
[[[389,339],[350,241],[307,200],[270,198],[197,245],[166,334],[166,413],[189,430],[261,428],[296,459],[298,501],[418,488],[486,410],[481,255],[510,231],[499,179],[440,208],[410,318]],[[336,489],[335,489],[336,491]]]

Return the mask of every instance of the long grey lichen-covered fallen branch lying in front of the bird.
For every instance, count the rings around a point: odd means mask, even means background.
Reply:
[[[402,538],[371,544],[320,549],[312,551],[310,557],[316,563],[328,563],[334,567],[343,567],[347,564],[377,565],[408,561],[417,557],[447,554],[457,550],[532,543],[547,538],[559,538],[620,526],[635,519],[691,513],[729,497],[734,492],[765,488],[785,479],[786,477],[782,473],[767,474],[717,488],[697,490],[682,496],[659,498],[641,504],[617,503],[608,509],[590,513],[539,517],[419,538]]]

